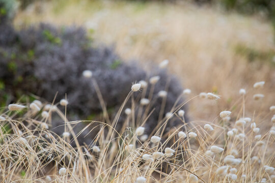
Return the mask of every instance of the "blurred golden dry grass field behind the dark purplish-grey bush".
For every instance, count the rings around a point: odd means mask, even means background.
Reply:
[[[275,1],[19,1],[15,27],[39,22],[85,26],[95,46],[111,45],[144,69],[169,59],[169,72],[194,96],[222,96],[218,105],[189,102],[194,120],[213,119],[213,108],[233,111],[240,88],[249,99],[266,95],[260,104],[248,100],[248,109],[274,105]],[[265,81],[265,88],[251,90],[258,81]]]

